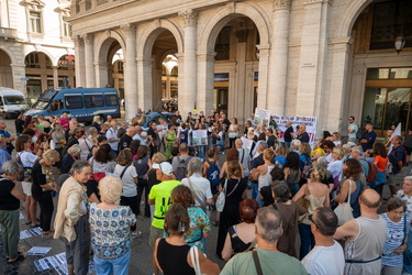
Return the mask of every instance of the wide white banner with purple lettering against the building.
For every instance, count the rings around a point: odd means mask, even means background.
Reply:
[[[298,135],[296,132],[297,125],[304,124],[307,125],[307,133],[309,134],[309,144],[313,147],[314,145],[314,139],[316,138],[316,117],[299,117],[299,116],[271,116],[271,118],[276,121],[278,124],[278,129],[280,129],[279,140],[280,142],[285,142],[283,134],[286,131],[286,122],[290,120],[292,122],[293,128],[293,139]]]

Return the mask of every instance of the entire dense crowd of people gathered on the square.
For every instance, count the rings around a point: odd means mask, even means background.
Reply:
[[[222,112],[141,122],[20,114],[12,136],[0,121],[8,264],[24,261],[24,200],[26,224],[65,243],[69,274],[87,274],[90,251],[97,274],[127,274],[140,215],[151,219],[154,274],[412,274],[412,131],[379,142],[350,117],[347,143],[325,131],[311,146],[304,124],[287,121],[280,142],[275,121],[253,116],[244,127]],[[192,146],[193,130],[208,143]],[[205,256],[212,226],[222,271]]]

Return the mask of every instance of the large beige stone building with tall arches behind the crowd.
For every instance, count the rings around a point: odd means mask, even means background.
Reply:
[[[331,132],[345,133],[348,116],[379,130],[412,125],[410,2],[76,0],[76,84],[112,85],[122,48],[126,118],[171,95],[163,79],[174,55],[183,114],[223,110],[242,123],[258,107],[318,117],[319,130]],[[407,38],[400,54],[398,35]]]

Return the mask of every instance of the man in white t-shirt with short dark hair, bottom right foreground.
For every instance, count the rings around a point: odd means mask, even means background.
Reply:
[[[303,257],[302,264],[309,275],[343,274],[345,256],[342,245],[333,240],[337,229],[337,216],[326,207],[318,208],[311,220],[315,246]]]

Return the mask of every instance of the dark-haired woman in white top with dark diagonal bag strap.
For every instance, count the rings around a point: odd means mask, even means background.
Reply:
[[[114,168],[114,174],[120,177],[123,185],[120,205],[129,206],[132,209],[132,212],[137,216],[141,204],[137,201],[137,173],[132,161],[132,152],[130,152],[130,150],[122,150],[118,156],[118,164]],[[132,238],[142,235],[142,232],[136,230],[136,223],[131,226],[131,231]]]

